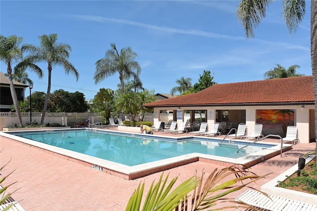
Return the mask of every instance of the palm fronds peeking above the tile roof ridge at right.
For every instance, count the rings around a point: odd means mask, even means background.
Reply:
[[[300,66],[294,64],[287,69],[281,66],[280,64],[276,64],[276,67],[270,69],[264,73],[264,77],[266,79],[273,79],[273,78],[290,78],[290,77],[297,77],[297,76],[304,76],[305,74],[296,73],[296,69]]]

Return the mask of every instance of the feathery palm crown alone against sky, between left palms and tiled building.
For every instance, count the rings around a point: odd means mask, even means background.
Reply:
[[[105,77],[119,73],[119,79],[121,84],[121,93],[124,93],[124,80],[128,80],[131,77],[139,78],[141,73],[141,67],[134,59],[137,57],[137,53],[133,52],[130,47],[121,49],[118,53],[115,44],[110,44],[111,49],[106,51],[104,58],[96,61],[96,71],[94,74],[95,83],[99,83],[104,80]]]

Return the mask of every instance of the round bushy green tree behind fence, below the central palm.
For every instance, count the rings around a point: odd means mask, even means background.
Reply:
[[[109,122],[109,117],[111,117],[111,112],[114,111],[114,92],[111,89],[102,88],[99,90],[97,95],[95,95],[92,104],[92,110],[95,112],[102,112]]]

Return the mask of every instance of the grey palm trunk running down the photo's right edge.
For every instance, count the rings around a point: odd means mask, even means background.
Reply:
[[[317,0],[311,1],[311,56],[315,96],[315,137],[317,134]],[[317,139],[316,139],[317,147]],[[316,156],[317,160],[317,156]],[[317,162],[316,162],[317,163]],[[317,164],[316,164],[317,165]]]

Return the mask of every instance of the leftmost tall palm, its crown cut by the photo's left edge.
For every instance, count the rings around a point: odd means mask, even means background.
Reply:
[[[23,50],[19,47],[22,41],[23,38],[18,37],[16,35],[10,35],[8,37],[0,35],[0,60],[3,61],[7,66],[6,74],[10,80],[11,97],[13,100],[13,105],[15,108],[16,115],[18,117],[20,127],[23,126],[23,122],[21,118],[18,99],[13,85],[14,74],[12,72],[12,65],[14,63],[18,63],[14,67],[14,69],[19,69],[20,65],[22,68],[30,68],[32,71],[37,73],[37,75],[40,78],[43,76],[42,70],[37,65],[34,65],[33,63],[30,63],[28,60],[23,59]]]

